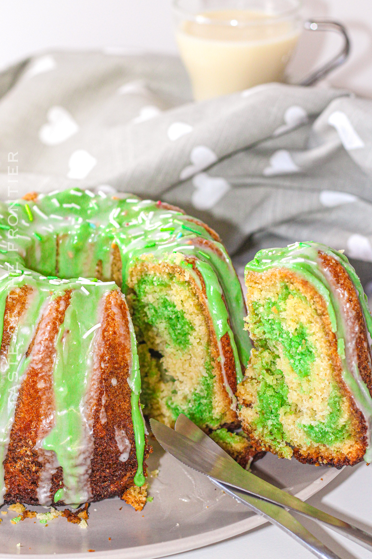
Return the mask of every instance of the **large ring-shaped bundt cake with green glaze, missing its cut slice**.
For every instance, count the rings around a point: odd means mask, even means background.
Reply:
[[[168,425],[181,412],[207,432],[239,424],[250,340],[213,230],[76,188],[1,203],[0,235],[3,501],[125,499],[144,484],[141,406]]]

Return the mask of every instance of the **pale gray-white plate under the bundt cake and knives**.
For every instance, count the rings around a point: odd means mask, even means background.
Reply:
[[[65,518],[51,520],[47,527],[33,518],[11,524],[16,513],[9,512],[0,515],[0,557],[152,559],[206,546],[265,523],[201,473],[166,454],[156,440],[151,443],[154,452],[147,461],[148,471],[158,469],[159,474],[156,479],[148,478],[153,501],[143,511],[134,511],[118,498],[91,503],[87,529],[67,523]],[[278,487],[288,487],[301,499],[308,499],[340,472],[269,453],[254,465],[254,471]],[[27,508],[46,511],[41,506]]]

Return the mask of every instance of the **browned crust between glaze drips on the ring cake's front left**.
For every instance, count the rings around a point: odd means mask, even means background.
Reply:
[[[27,304],[27,288],[9,293],[4,317],[4,333],[10,331],[15,318],[18,320]],[[35,450],[40,440],[52,425],[54,400],[52,391],[52,369],[56,352],[56,338],[64,321],[71,292],[57,297],[38,325],[28,354],[31,362],[26,372],[17,399],[15,420],[10,442],[4,460],[4,480],[7,487],[6,503],[38,504],[37,487],[41,470],[50,456],[42,450]],[[120,312],[118,323],[117,313]],[[11,318],[8,319],[7,316]],[[10,323],[9,323],[10,321]],[[13,326],[14,330],[14,326]],[[65,335],[68,335],[66,331]],[[9,340],[3,336],[2,352],[7,351]],[[127,307],[118,291],[112,291],[105,300],[102,320],[102,340],[95,356],[95,371],[88,398],[93,423],[94,454],[91,460],[90,485],[93,500],[122,495],[133,485],[137,471],[136,446],[134,442],[131,415],[131,389],[127,377],[131,352]],[[42,359],[42,363],[40,360]],[[117,379],[115,389],[112,378]],[[95,385],[96,382],[96,385]],[[106,399],[103,400],[105,394]],[[100,413],[104,402],[106,420],[102,423]],[[126,462],[119,461],[119,449],[115,440],[115,426],[125,429],[132,444]],[[146,444],[145,459],[151,447]],[[144,463],[146,471],[146,463]],[[63,487],[62,468],[57,467],[52,476],[50,498]],[[63,501],[56,503],[64,504]]]

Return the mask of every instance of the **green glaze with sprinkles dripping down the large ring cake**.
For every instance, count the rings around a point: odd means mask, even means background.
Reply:
[[[158,202],[141,201],[132,195],[112,196],[104,192],[95,195],[89,190],[81,191],[78,188],[40,195],[36,201],[18,200],[15,203],[0,203],[0,278],[9,272],[15,272],[17,268],[30,272],[27,276],[23,275],[22,278],[17,278],[16,276],[21,274],[15,273],[13,277],[7,276],[0,279],[0,314],[4,310],[6,297],[12,289],[12,282],[20,282],[19,285],[22,285],[22,282],[26,282],[27,285],[32,284],[33,290],[37,294],[35,309],[31,310],[30,307],[27,310],[28,325],[37,324],[40,309],[50,297],[55,297],[57,293],[63,293],[68,288],[73,290],[74,295],[71,297],[66,320],[71,321],[71,328],[74,331],[79,330],[81,333],[84,328],[88,330],[98,323],[96,307],[94,308],[93,302],[88,304],[88,297],[91,297],[94,287],[84,283],[83,287],[90,292],[90,295],[86,296],[84,293],[81,295],[78,291],[81,284],[71,278],[94,277],[96,264],[100,261],[103,281],[109,281],[113,243],[117,244],[122,257],[124,292],[127,290],[129,269],[141,255],[153,254],[154,258],[163,259],[168,258],[171,253],[181,253],[196,259],[200,268],[203,268],[202,274],[204,273],[205,278],[208,276],[208,268],[215,274],[215,288],[207,293],[207,305],[214,324],[216,324],[219,340],[226,331],[229,333],[239,381],[241,379],[240,362],[246,366],[250,349],[248,333],[241,327],[245,315],[245,305],[240,284],[223,246],[214,241],[204,227],[190,220],[189,216],[185,216],[179,211],[162,208]],[[17,231],[15,231],[16,229]],[[198,239],[206,239],[210,246],[204,247],[203,245],[199,249],[197,242],[195,245],[193,244],[193,241]],[[62,284],[61,278],[71,281]],[[199,281],[199,278],[197,279]],[[218,283],[223,287],[228,311],[223,303],[222,291],[218,288]],[[103,287],[102,283],[96,283],[96,285],[101,286],[98,287],[98,291],[117,288],[114,285]],[[79,292],[79,296],[75,296],[75,292]],[[84,297],[86,298],[84,299]],[[91,300],[93,301],[93,299],[94,297]],[[74,315],[74,310],[76,310],[78,319]],[[223,328],[217,324],[216,317],[213,316],[213,312],[219,311],[223,312]],[[228,317],[233,331],[228,324]],[[76,320],[78,324],[76,324]],[[129,323],[131,324],[131,321]],[[19,326],[21,327],[21,325]],[[2,329],[2,324],[0,324],[0,329]],[[14,340],[21,340],[21,334],[18,331],[20,328],[18,328],[17,334],[13,335],[12,344],[18,343]],[[22,356],[31,342],[32,335],[32,331],[27,335],[22,334],[25,339],[23,342],[19,341],[20,345],[17,349],[21,356],[17,365],[19,378],[27,369],[28,362],[26,359],[22,360]],[[66,359],[71,359],[70,364],[75,367],[77,375],[74,386],[71,384],[73,381],[64,378],[61,373],[62,357],[60,354],[55,363],[56,424],[54,430],[44,441],[44,447],[54,449],[58,459],[64,463],[64,472],[66,471],[65,502],[66,499],[76,502],[79,500],[79,495],[85,494],[84,484],[81,480],[79,481],[79,466],[75,464],[75,461],[78,456],[79,441],[81,441],[81,437],[84,438],[84,429],[81,426],[81,420],[79,424],[79,417],[82,413],[81,402],[84,399],[83,392],[86,391],[87,378],[84,377],[81,356],[90,347],[93,336],[94,333],[84,340],[81,339],[80,348],[77,347],[79,344],[71,345],[71,348],[70,346],[68,348],[66,355],[69,357]],[[59,338],[60,343],[61,338]],[[142,461],[145,440],[143,419],[139,411],[141,377],[134,331],[131,331],[131,343],[133,362],[128,383],[132,390],[132,419],[138,462],[134,481],[137,485],[142,485],[144,482]],[[7,372],[9,372],[8,369]],[[7,375],[3,375],[0,380],[0,394],[6,394],[11,390],[14,397],[12,405],[6,405],[4,398],[0,399],[0,452],[2,452],[2,456],[6,453],[14,407],[20,388],[20,382],[15,384],[8,380],[5,381],[4,378],[7,378]],[[79,385],[82,378],[83,383]],[[67,385],[69,389],[65,394],[64,390]],[[69,407],[64,413],[66,406]],[[66,421],[62,421],[62,417]],[[69,440],[69,447],[61,450],[58,446],[59,442],[65,440],[64,433]],[[4,485],[3,482],[1,485]]]

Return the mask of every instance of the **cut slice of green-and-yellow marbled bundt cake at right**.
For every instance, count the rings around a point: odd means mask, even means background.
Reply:
[[[237,391],[257,449],[337,468],[372,459],[372,318],[342,253],[295,243],[247,264],[255,347]]]

